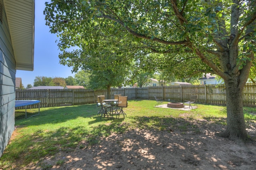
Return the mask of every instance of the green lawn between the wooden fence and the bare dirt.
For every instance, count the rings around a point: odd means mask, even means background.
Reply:
[[[180,121],[196,122],[202,119],[226,124],[226,107],[223,106],[198,104],[197,109],[182,111],[156,108],[155,104],[153,100],[129,100],[128,107],[124,108],[127,117],[122,119],[121,115],[119,119],[109,120],[97,117],[95,104],[41,108],[40,115],[28,119],[25,119],[25,110],[16,110],[16,130],[0,158],[0,169],[11,169],[17,162],[20,166],[40,162],[46,156],[54,156],[59,150],[84,148],[82,141],[96,145],[100,137],[107,137],[113,132],[124,133],[133,128],[163,131],[167,127],[177,126]],[[36,112],[37,109],[27,109],[28,117]],[[244,107],[244,115],[246,121],[256,121],[255,108]],[[186,133],[186,126],[193,125],[184,123],[178,128]],[[41,168],[51,167],[42,165]]]

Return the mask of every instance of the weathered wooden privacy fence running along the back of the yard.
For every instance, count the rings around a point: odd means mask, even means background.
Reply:
[[[128,99],[154,100],[163,98],[170,102],[184,102],[196,95],[198,103],[226,105],[226,90],[221,85],[186,85],[186,86],[155,86],[145,88],[111,88],[114,94],[128,96]],[[90,89],[45,89],[16,90],[16,100],[40,100],[40,107],[71,106],[96,103],[98,95],[107,95],[106,90]],[[243,90],[244,106],[256,107],[256,84],[248,83]],[[36,105],[32,107],[37,107]]]

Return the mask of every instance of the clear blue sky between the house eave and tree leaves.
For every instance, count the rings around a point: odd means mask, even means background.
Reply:
[[[75,74],[72,74],[72,68],[59,64],[57,35],[50,33],[50,28],[45,25],[45,2],[35,0],[34,71],[16,71],[16,77],[22,79],[25,88],[28,84],[33,86],[36,76],[67,78]]]

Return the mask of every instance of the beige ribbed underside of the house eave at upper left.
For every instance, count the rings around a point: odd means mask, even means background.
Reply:
[[[34,70],[34,0],[4,0],[17,70]]]

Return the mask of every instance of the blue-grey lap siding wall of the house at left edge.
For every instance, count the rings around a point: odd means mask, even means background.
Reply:
[[[15,59],[10,33],[3,12],[0,22],[0,156],[14,131],[15,123]]]

